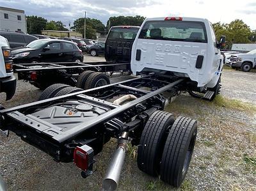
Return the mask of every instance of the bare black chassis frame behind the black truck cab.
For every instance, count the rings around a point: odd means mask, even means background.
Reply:
[[[36,88],[45,89],[56,83],[76,86],[77,78],[84,71],[108,72],[111,76],[119,72],[121,75],[131,73],[130,63],[115,61],[97,63],[24,63],[13,65],[19,80],[29,81]]]

